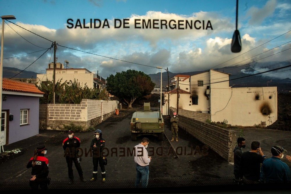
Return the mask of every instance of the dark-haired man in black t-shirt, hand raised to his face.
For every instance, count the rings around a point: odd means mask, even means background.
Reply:
[[[266,156],[260,148],[260,142],[253,141],[251,150],[242,154],[239,168],[240,179],[249,184],[259,183],[260,164],[263,163],[265,158]]]

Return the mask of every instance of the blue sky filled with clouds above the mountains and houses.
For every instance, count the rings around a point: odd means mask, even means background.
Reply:
[[[240,53],[230,51],[235,6],[235,0],[1,1],[1,15],[14,15],[16,19],[10,21],[24,28],[6,21],[9,26],[5,23],[3,66],[23,70],[40,57],[45,48],[51,47],[50,41],[59,45],[57,62],[68,60],[71,67],[86,68],[94,73],[98,70],[104,78],[127,69],[147,74],[160,72],[156,66],[179,73],[248,63],[254,69],[261,68],[258,71],[289,65],[267,67],[291,59],[290,0],[239,0]],[[142,21],[150,23],[151,27],[146,27]],[[253,49],[255,47],[258,48]],[[52,51],[49,49],[26,70],[44,73],[47,64],[53,62]],[[27,54],[31,52],[35,53]],[[291,78],[290,70],[270,76]]]

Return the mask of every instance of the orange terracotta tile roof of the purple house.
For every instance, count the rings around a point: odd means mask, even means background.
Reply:
[[[15,81],[12,79],[3,78],[2,90],[10,92],[24,92],[31,94],[44,94],[32,83],[25,83],[22,81]]]

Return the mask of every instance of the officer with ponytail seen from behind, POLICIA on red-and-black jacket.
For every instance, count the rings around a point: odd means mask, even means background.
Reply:
[[[47,149],[45,145],[38,146],[34,150],[33,157],[29,160],[26,168],[32,168],[29,185],[31,189],[47,189],[47,176],[49,175],[49,160],[45,157]]]

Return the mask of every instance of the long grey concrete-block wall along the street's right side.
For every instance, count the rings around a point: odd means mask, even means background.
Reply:
[[[171,116],[175,109],[171,109]],[[184,129],[196,139],[208,145],[210,149],[226,159],[233,162],[233,149],[236,144],[235,131],[223,129],[205,122],[180,115],[179,109],[178,127]]]

